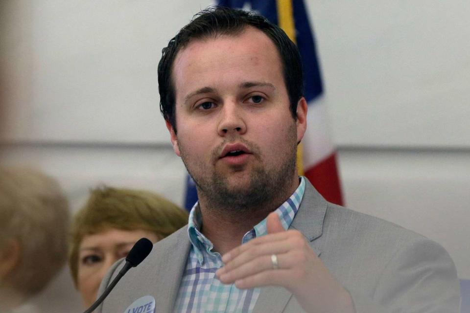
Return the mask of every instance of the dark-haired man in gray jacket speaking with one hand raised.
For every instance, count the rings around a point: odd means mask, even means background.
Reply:
[[[298,177],[302,67],[277,26],[203,11],[164,49],[159,90],[199,202],[98,312],[149,299],[155,312],[458,312],[442,247],[330,204]]]

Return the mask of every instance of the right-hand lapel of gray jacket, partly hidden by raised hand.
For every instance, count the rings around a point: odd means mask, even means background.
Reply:
[[[305,179],[304,198],[289,229],[297,229],[310,242],[313,251],[320,256],[321,249],[315,239],[323,233],[323,221],[327,211],[327,202]],[[285,288],[268,286],[261,289],[253,312],[284,312],[292,293]]]

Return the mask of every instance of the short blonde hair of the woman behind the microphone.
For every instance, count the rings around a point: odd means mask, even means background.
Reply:
[[[139,229],[155,233],[160,240],[186,224],[188,212],[158,194],[107,186],[91,190],[71,226],[69,266],[75,286],[78,251],[84,237],[108,229]]]

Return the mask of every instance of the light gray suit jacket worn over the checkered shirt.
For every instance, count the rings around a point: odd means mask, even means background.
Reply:
[[[331,204],[308,180],[290,228],[305,235],[332,275],[350,292],[357,313],[459,312],[455,266],[443,247],[421,235]],[[155,244],[147,259],[124,276],[96,312],[124,312],[144,295],[155,297],[156,313],[171,312],[189,248],[187,226]],[[122,264],[110,269],[99,294]],[[273,286],[262,289],[254,312],[303,310],[289,291]]]

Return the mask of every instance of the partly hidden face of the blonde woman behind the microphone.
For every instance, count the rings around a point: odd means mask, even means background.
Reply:
[[[108,269],[127,256],[142,237],[152,243],[158,236],[147,230],[109,229],[83,238],[78,253],[77,287],[83,303],[89,307],[96,300],[99,285]]]

